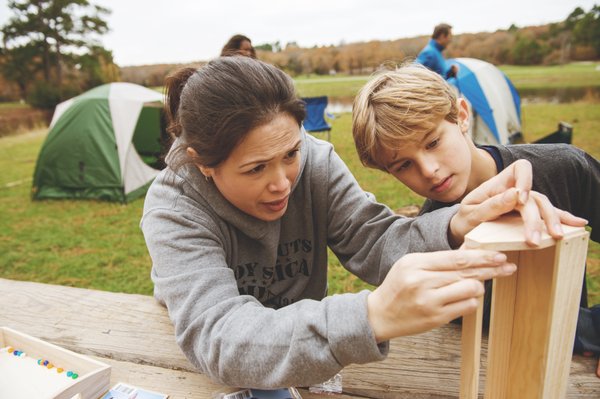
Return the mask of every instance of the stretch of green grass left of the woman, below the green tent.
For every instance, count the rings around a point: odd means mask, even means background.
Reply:
[[[0,276],[150,294],[150,259],[129,205],[29,199],[45,130],[0,139]]]

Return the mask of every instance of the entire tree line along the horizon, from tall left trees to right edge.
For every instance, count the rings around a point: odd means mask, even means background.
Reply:
[[[103,83],[162,86],[181,64],[119,68],[100,44],[110,10],[87,0],[9,0],[12,17],[0,27],[0,101],[26,99],[41,108]],[[256,46],[259,59],[292,76],[365,74],[383,63],[417,56],[428,36],[302,48],[279,42]],[[600,59],[600,6],[575,8],[564,21],[510,26],[495,32],[455,35],[446,57],[478,58],[496,65],[552,65]],[[204,61],[193,63],[200,66]]]

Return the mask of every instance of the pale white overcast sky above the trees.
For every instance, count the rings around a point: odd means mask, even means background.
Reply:
[[[112,10],[103,45],[120,66],[208,60],[236,33],[252,43],[300,46],[430,35],[440,22],[455,34],[563,21],[600,0],[91,0]],[[0,0],[0,26],[8,20]]]

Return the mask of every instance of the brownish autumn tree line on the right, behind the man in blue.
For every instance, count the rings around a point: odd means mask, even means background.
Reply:
[[[260,59],[291,75],[364,74],[383,63],[414,59],[428,36],[392,41],[341,43],[303,49],[279,43],[257,46]],[[554,65],[600,59],[600,6],[585,12],[577,7],[564,21],[519,28],[512,25],[496,32],[455,35],[445,51],[448,58],[470,57],[495,65]]]

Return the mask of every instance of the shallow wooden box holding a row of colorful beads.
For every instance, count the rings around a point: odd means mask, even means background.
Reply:
[[[109,388],[109,365],[0,327],[0,398],[97,399]]]

